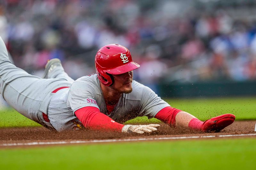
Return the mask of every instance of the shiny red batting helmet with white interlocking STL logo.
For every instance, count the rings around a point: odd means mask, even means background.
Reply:
[[[132,61],[130,51],[118,44],[108,44],[99,49],[95,56],[95,67],[98,78],[103,85],[112,85],[110,74],[123,74],[140,67]]]

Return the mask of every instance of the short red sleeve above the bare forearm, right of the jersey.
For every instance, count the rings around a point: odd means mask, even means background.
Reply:
[[[175,126],[175,117],[179,112],[182,112],[182,110],[173,108],[171,106],[164,107],[156,114],[155,118],[164,123]]]

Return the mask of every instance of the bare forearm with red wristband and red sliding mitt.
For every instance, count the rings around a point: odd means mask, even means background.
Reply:
[[[219,132],[232,124],[236,116],[233,114],[224,114],[203,122],[187,112],[179,112],[175,119],[177,126],[189,127],[204,132]]]

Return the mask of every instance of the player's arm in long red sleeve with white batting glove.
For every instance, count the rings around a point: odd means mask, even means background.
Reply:
[[[115,131],[123,133],[151,133],[160,125],[123,125],[100,112],[97,107],[83,107],[75,112],[76,117],[85,128],[102,131]]]

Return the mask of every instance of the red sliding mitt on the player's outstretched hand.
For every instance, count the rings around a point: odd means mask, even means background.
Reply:
[[[231,125],[235,119],[236,116],[233,114],[225,114],[213,117],[212,119],[204,121],[202,130],[204,132],[219,132],[220,130],[226,128],[228,125]]]

